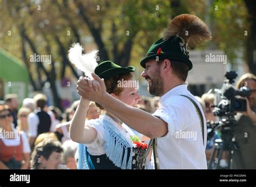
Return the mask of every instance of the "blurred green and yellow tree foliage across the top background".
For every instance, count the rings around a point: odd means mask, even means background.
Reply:
[[[217,49],[225,51],[230,62],[237,57],[238,51],[244,49],[245,31],[250,32],[248,13],[242,0],[0,0],[0,47],[22,59],[20,33],[21,26],[24,25],[25,33],[35,42],[38,52],[47,54],[50,51],[55,59],[56,75],[60,78],[64,56],[60,55],[60,46],[56,38],[66,52],[72,42],[77,42],[78,39],[85,46],[85,51],[99,47],[89,24],[79,14],[79,4],[83,6],[83,13],[91,25],[100,33],[98,39],[102,40],[109,59],[117,59],[116,63],[126,59],[124,64],[128,65],[130,62],[136,67],[140,67],[139,61],[147,49],[161,37],[161,32],[169,19],[180,13],[192,13],[203,20],[207,16],[210,17],[212,42]],[[216,5],[218,10],[215,10]],[[11,36],[8,35],[9,31]],[[130,46],[126,45],[129,41]],[[25,48],[29,58],[32,50],[27,42]],[[49,64],[43,65],[49,71],[52,68]],[[36,78],[35,69],[35,64],[30,64],[30,71]],[[69,75],[70,72],[67,68],[65,75]],[[46,78],[45,75],[42,77]]]

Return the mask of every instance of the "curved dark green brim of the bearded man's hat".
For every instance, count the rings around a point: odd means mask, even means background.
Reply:
[[[191,70],[193,68],[193,64],[192,62],[180,55],[175,55],[175,54],[153,54],[150,56],[145,57],[142,61],[140,61],[140,66],[142,66],[143,68],[146,68],[146,62],[150,61],[150,60],[156,60],[156,57],[159,57],[159,60],[164,60],[164,59],[170,59],[170,60],[179,60],[179,61],[183,61],[188,65],[188,70]]]

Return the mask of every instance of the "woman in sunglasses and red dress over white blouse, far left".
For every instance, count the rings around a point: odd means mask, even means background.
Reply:
[[[30,146],[25,132],[12,128],[8,105],[0,105],[0,169],[29,169]]]

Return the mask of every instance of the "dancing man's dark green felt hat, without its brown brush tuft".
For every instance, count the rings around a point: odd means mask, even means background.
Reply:
[[[149,60],[177,60],[186,63],[189,70],[193,65],[189,59],[189,52],[187,50],[187,44],[178,35],[173,35],[167,40],[163,38],[154,42],[147,52],[145,58],[140,62],[140,65],[145,68],[145,63]]]

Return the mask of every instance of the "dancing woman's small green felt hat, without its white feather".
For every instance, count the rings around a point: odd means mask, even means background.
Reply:
[[[100,62],[95,68],[95,74],[98,75],[100,78],[104,78],[104,80],[108,80],[109,78],[117,76],[119,74],[131,73],[133,71],[135,71],[135,68],[133,66],[123,68],[109,60]]]

